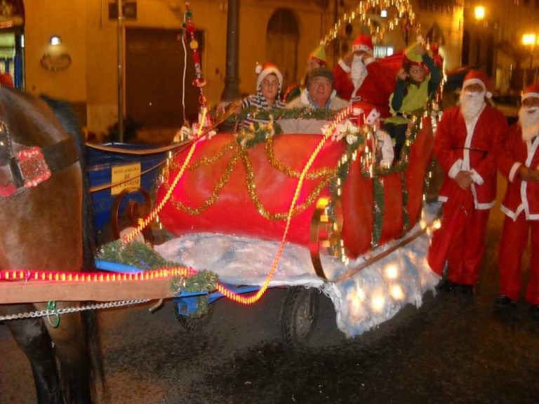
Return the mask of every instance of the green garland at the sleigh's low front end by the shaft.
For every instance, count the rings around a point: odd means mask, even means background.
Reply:
[[[120,264],[131,265],[145,271],[164,267],[183,267],[178,262],[165,260],[153,248],[146,243],[133,241],[124,244],[121,240],[115,240],[102,245],[98,251],[98,259]],[[213,292],[217,289],[218,276],[208,270],[199,271],[187,278],[175,276],[171,279],[171,290],[175,295],[185,292]],[[198,318],[208,312],[208,297],[197,297],[197,311],[189,317]]]

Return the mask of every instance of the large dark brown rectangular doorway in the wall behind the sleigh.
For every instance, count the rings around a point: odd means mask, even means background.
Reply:
[[[204,36],[197,34],[202,54]],[[188,40],[185,48],[187,58],[179,29],[126,28],[126,117],[142,128],[180,128],[197,120],[199,89],[192,85],[195,70]]]

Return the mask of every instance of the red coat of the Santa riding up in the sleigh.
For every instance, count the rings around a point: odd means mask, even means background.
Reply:
[[[381,118],[391,116],[390,95],[395,87],[395,77],[391,69],[387,69],[376,62],[375,58],[368,58],[365,63],[367,76],[357,90],[355,97],[368,102],[380,112]],[[333,69],[335,77],[335,90],[339,97],[350,100],[354,93],[354,83],[350,78],[350,67],[342,60]]]

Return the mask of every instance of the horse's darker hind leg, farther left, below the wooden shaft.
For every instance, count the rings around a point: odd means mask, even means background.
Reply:
[[[6,314],[32,311],[32,305],[4,307],[0,310]],[[22,307],[22,309],[21,309]],[[41,318],[27,320],[11,320],[6,325],[20,349],[26,354],[34,375],[36,398],[39,404],[62,404],[60,379],[54,358],[51,337]]]

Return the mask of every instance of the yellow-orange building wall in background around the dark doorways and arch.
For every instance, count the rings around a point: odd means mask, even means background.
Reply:
[[[118,62],[117,21],[108,19],[108,0],[25,0],[25,79],[27,90],[47,93],[72,102],[86,102],[88,130],[106,133],[117,121]],[[204,32],[202,54],[203,76],[207,81],[206,97],[211,106],[217,104],[224,89],[227,1],[193,0],[190,2],[193,23]],[[293,11],[298,20],[298,72],[305,72],[307,55],[319,44],[334,22],[334,2],[323,11],[314,0],[241,0],[239,39],[239,89],[254,93],[256,62],[266,58],[267,22],[278,8]],[[180,29],[185,1],[138,0],[138,18],[126,20],[126,27]],[[340,15],[339,15],[340,17]],[[431,16],[427,16],[432,18]],[[72,58],[72,65],[61,72],[48,72],[40,59],[52,35],[62,37],[62,46]],[[449,66],[458,65],[455,36],[444,52]],[[332,64],[332,48],[326,55]],[[398,49],[396,49],[398,50]],[[448,53],[451,57],[448,58]],[[453,55],[453,53],[455,55]],[[190,62],[190,61],[189,61]],[[190,83],[187,83],[190,85]],[[180,95],[178,95],[180,96]]]

